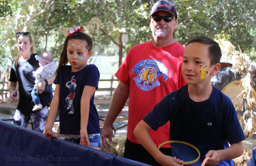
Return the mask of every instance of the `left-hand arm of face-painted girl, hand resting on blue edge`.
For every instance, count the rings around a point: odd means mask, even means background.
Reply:
[[[45,125],[44,136],[46,138],[52,138],[52,137],[60,138],[56,134],[54,134],[54,132],[52,132],[52,126],[59,112],[59,101],[60,101],[60,85],[56,84],[54,96],[50,106],[48,120]]]

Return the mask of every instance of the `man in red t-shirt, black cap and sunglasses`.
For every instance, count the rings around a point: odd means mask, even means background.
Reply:
[[[120,83],[101,133],[103,145],[109,148],[109,143],[112,143],[111,125],[130,95],[124,157],[150,165],[159,163],[140,145],[133,130],[165,95],[187,84],[181,74],[184,47],[173,39],[176,19],[177,12],[171,2],[160,0],[152,7],[149,19],[152,41],[133,46],[116,72]],[[169,123],[157,131],[149,130],[157,147],[169,140],[169,134],[166,134],[169,132]],[[170,144],[165,145],[160,150],[165,155],[172,155],[170,147]]]

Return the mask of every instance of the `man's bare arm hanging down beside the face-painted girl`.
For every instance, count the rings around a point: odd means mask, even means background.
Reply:
[[[124,84],[123,82],[120,82],[116,87],[115,93],[112,98],[112,102],[108,110],[108,114],[104,121],[101,136],[100,136],[102,140],[102,144],[107,149],[110,147],[110,144],[112,144],[111,125],[114,123],[116,117],[120,114],[120,112],[124,108],[124,105],[128,99],[129,93],[130,93],[130,86]],[[110,144],[106,141],[106,138],[108,138]]]

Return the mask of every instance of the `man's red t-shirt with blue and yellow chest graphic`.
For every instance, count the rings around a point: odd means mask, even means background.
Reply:
[[[115,76],[130,85],[127,138],[140,144],[133,134],[134,128],[164,96],[186,85],[182,77],[184,47],[174,42],[163,48],[154,47],[151,41],[137,44],[128,52]],[[149,134],[158,147],[169,140],[169,122]],[[171,147],[166,144],[163,147]]]

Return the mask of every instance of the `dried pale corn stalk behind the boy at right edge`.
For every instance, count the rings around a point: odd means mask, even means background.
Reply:
[[[243,113],[244,135],[247,138],[252,138],[252,133],[256,131],[256,102],[251,95],[251,92],[253,91],[252,87],[255,85],[255,83],[252,81],[252,77],[249,73],[249,69],[251,67],[249,64],[249,62],[251,62],[250,57],[245,53],[242,53],[239,46],[238,48],[239,51],[236,51],[235,47],[233,47],[232,54],[230,55],[235,76],[236,73],[242,73],[241,84],[239,86],[242,86],[244,90],[236,97],[236,99],[239,97],[241,98],[241,102],[239,103],[239,110],[241,110],[243,105],[246,103],[246,111]],[[232,47],[229,47],[229,51],[230,49],[232,49]]]

